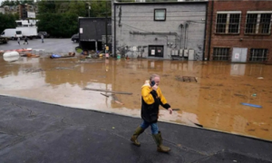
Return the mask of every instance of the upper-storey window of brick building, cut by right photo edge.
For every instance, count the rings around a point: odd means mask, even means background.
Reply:
[[[270,34],[271,12],[248,12],[245,34]]]

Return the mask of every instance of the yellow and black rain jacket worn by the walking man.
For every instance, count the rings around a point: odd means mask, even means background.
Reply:
[[[162,95],[160,87],[158,87],[157,91],[154,91],[151,88],[150,81],[146,81],[141,86],[141,119],[149,123],[157,122],[160,105],[165,109],[170,108],[170,104]]]

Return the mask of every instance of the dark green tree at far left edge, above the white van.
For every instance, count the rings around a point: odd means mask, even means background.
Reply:
[[[15,15],[14,14],[2,14],[0,13],[0,32],[2,33],[6,28],[15,28]]]

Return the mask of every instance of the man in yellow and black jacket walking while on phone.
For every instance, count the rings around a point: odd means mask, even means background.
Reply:
[[[170,148],[162,145],[161,133],[158,128],[159,118],[159,107],[160,105],[169,110],[170,114],[172,109],[170,104],[167,103],[166,99],[162,95],[159,87],[160,76],[158,74],[152,74],[150,81],[146,81],[141,86],[141,119],[142,123],[131,137],[131,141],[134,145],[140,146],[140,142],[137,140],[139,135],[151,126],[152,137],[157,144],[157,150],[160,152],[169,152]]]

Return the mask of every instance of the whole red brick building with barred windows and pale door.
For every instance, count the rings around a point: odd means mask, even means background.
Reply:
[[[206,60],[272,63],[271,1],[210,0],[208,15]]]

